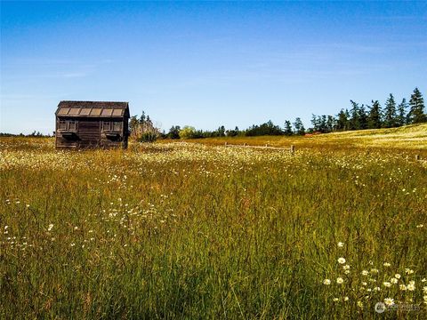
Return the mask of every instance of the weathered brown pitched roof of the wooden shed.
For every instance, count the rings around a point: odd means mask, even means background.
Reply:
[[[56,116],[124,117],[129,116],[128,102],[60,101]]]

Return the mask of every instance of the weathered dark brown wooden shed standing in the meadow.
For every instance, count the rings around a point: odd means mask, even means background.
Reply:
[[[127,148],[129,103],[60,101],[56,148]]]

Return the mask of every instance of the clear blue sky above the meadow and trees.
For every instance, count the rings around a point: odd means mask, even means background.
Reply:
[[[427,2],[3,2],[0,132],[60,100],[129,101],[166,131],[427,95]]]

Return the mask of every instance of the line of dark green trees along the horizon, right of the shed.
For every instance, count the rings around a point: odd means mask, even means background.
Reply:
[[[286,120],[283,127],[268,121],[264,124],[254,124],[245,130],[236,126],[226,130],[222,125],[214,131],[197,130],[186,125],[173,125],[168,132],[160,132],[152,123],[149,116],[133,116],[130,120],[131,137],[139,141],[153,141],[160,139],[200,139],[234,136],[262,136],[262,135],[304,135],[306,133],[342,132],[350,130],[394,128],[406,124],[420,124],[427,122],[424,113],[423,94],[415,88],[410,100],[404,98],[397,104],[391,93],[382,107],[379,100],[372,100],[369,105],[359,104],[350,100],[350,108],[342,108],[336,116],[312,115],[311,126],[306,129],[300,117],[294,122]]]

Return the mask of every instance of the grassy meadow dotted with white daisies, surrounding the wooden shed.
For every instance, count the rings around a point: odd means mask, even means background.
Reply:
[[[426,132],[0,139],[0,318],[425,319]]]

